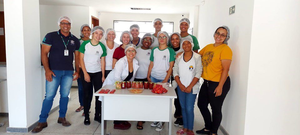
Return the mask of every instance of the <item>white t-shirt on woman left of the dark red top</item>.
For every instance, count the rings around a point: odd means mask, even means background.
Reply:
[[[120,45],[114,42],[115,45],[113,46],[113,49],[109,49],[106,41],[101,41],[101,43],[105,46],[107,52],[107,55],[105,56],[105,70],[113,70],[113,52]]]

